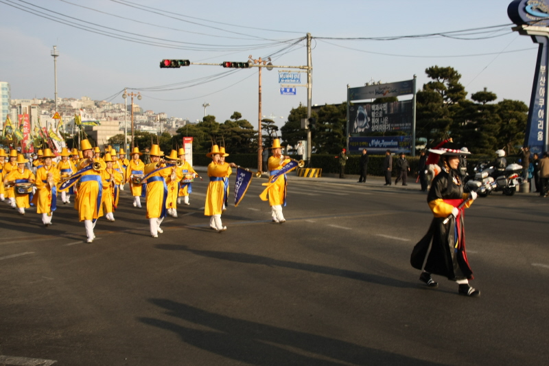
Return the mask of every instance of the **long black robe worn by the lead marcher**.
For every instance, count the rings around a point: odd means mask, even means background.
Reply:
[[[459,176],[458,172],[452,170],[447,173],[443,170],[434,178],[427,196],[428,202],[436,199],[463,200],[463,183],[460,183],[459,179],[452,179],[452,176]],[[457,218],[452,216],[446,224],[443,223],[444,220],[445,218],[433,218],[429,231],[412,250],[410,263],[414,268],[424,269],[448,279],[472,279],[473,271],[469,267],[465,253],[463,209],[460,209]]]

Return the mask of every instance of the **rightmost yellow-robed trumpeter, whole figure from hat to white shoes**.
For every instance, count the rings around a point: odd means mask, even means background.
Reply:
[[[269,158],[269,173],[270,175],[277,174],[282,167],[290,163],[290,157],[282,156],[282,148],[280,146],[280,139],[274,139],[272,141],[272,156]],[[281,174],[275,181],[269,181],[264,183],[267,185],[266,190],[259,195],[261,200],[269,201],[271,208],[271,218],[273,222],[283,223],[285,218],[282,214],[282,206],[286,203],[286,182],[285,174]],[[268,198],[267,198],[268,195]]]

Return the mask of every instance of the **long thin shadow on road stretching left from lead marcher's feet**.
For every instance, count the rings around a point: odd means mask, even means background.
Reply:
[[[400,287],[400,288],[416,288],[417,286],[410,282],[400,281],[390,277],[384,277],[380,275],[371,275],[369,273],[361,273],[356,271],[349,271],[347,269],[334,268],[329,266],[319,266],[317,264],[306,264],[299,262],[290,262],[287,260],[275,260],[268,257],[262,257],[261,255],[253,255],[246,253],[231,253],[226,251],[200,251],[196,249],[189,249],[185,245],[181,244],[158,244],[154,247],[163,249],[166,251],[187,251],[195,255],[201,255],[202,257],[215,258],[219,260],[229,260],[231,262],[247,263],[247,264],[264,264],[265,266],[277,266],[283,268],[292,268],[300,271],[309,271],[314,273],[321,273],[323,275],[332,275],[338,277],[344,277],[349,279],[358,279],[359,281],[369,282],[371,284],[379,284],[384,286]]]

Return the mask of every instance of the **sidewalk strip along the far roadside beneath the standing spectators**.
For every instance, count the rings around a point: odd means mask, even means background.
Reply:
[[[195,166],[193,167],[194,170],[197,172],[207,172],[208,168],[205,166]],[[233,170],[234,172],[235,170]],[[320,178],[304,178],[301,176],[297,176],[297,173],[290,172],[290,174],[286,175],[288,178],[288,181],[309,181],[309,182],[320,182],[320,183],[329,183],[329,184],[341,184],[341,185],[355,185],[357,187],[375,187],[375,188],[383,188],[386,190],[409,190],[409,191],[418,191],[421,192],[421,184],[416,183],[416,180],[412,176],[408,176],[407,184],[408,185],[402,185],[402,182],[399,182],[398,185],[395,185],[395,179],[396,177],[393,176],[391,178],[391,185],[384,185],[385,184],[385,177],[384,176],[372,176],[369,175],[366,178],[366,183],[358,183],[359,175],[358,174],[345,174],[344,179],[339,178],[339,174],[325,174],[325,176],[322,176]],[[268,174],[264,173],[261,174],[261,178],[259,179],[268,179]],[[494,192],[492,195],[502,195],[502,192]],[[539,193],[530,192],[530,193],[521,193],[516,192],[514,196],[528,196],[528,197],[539,197]]]

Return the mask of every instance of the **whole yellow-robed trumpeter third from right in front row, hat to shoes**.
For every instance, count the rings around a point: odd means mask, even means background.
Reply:
[[[176,179],[175,166],[166,165],[161,156],[163,153],[160,151],[160,147],[152,145],[150,148],[150,161],[152,162],[145,165],[147,218],[152,238],[158,238],[158,233],[163,233],[160,225],[167,213],[167,183]]]

